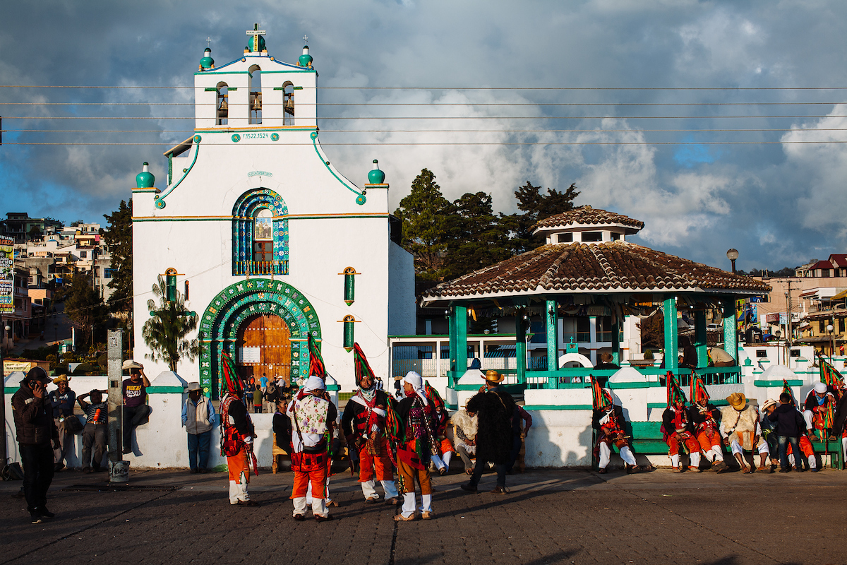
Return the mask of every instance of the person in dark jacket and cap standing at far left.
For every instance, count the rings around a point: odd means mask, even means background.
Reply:
[[[51,382],[41,367],[30,368],[12,396],[14,428],[24,467],[24,496],[32,523],[53,518],[47,510],[47,489],[53,481],[53,449],[58,449],[58,428],[45,386]]]

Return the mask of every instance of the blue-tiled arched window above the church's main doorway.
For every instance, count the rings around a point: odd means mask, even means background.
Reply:
[[[288,208],[270,189],[247,191],[235,202],[232,274],[288,274]]]

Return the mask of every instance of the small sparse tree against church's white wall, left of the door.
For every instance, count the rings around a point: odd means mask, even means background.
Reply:
[[[168,363],[171,371],[176,373],[176,366],[182,357],[194,361],[200,354],[200,342],[195,338],[186,340],[185,335],[197,329],[197,314],[185,311],[185,298],[180,291],[174,290],[175,300],[168,300],[168,290],[162,275],[158,283],[152,286],[159,305],[152,298],[147,301],[147,310],[151,318],[144,323],[141,337],[150,348],[147,358],[152,361],[163,360]]]

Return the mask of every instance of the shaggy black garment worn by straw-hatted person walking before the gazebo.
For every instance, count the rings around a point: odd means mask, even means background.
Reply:
[[[477,413],[477,455],[495,464],[509,462],[512,452],[512,415],[515,401],[507,392],[479,392],[468,401],[468,412]]]

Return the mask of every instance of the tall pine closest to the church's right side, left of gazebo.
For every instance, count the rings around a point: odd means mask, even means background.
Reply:
[[[394,213],[402,224],[401,245],[414,256],[419,279],[442,278],[453,214],[453,205],[441,194],[435,174],[422,169]]]

